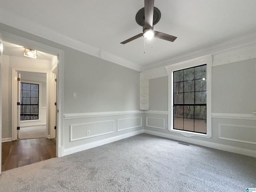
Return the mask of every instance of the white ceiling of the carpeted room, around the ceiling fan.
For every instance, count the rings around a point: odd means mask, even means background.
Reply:
[[[256,32],[256,0],[155,0],[161,19],[154,30],[174,42],[144,38],[135,21],[144,0],[0,0],[0,8],[110,52],[142,68]]]

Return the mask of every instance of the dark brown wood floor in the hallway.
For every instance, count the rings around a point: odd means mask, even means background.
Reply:
[[[2,143],[2,171],[56,157],[56,140],[22,139]]]

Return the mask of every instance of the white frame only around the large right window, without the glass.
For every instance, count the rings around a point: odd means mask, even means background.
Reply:
[[[177,130],[173,128],[173,72],[206,64],[206,134]],[[212,56],[206,55],[165,67],[168,74],[168,130],[186,137],[212,137]]]

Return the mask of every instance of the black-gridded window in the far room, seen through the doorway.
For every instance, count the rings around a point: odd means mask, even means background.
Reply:
[[[20,120],[38,119],[39,84],[20,83]]]

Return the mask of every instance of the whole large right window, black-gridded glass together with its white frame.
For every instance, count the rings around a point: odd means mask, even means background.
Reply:
[[[212,56],[193,58],[165,68],[168,130],[186,137],[212,137]]]

